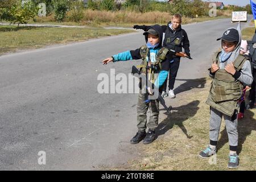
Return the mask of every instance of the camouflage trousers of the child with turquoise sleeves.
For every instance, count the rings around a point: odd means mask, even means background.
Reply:
[[[147,94],[139,93],[137,104],[137,127],[139,131],[148,129],[155,130],[158,127],[159,101],[147,100]],[[147,110],[150,109],[150,119],[147,122]]]

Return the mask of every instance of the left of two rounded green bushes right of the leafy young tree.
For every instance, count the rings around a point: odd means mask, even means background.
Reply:
[[[53,1],[53,10],[55,13],[55,19],[58,22],[63,21],[63,19],[66,17],[67,15],[67,11],[68,11],[68,0],[54,0]]]

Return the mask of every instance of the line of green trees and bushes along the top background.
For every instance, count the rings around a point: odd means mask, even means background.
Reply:
[[[166,0],[167,1],[167,0]],[[197,16],[208,16],[209,7],[201,0],[173,0],[169,2],[158,2],[155,0],[126,0],[118,3],[115,0],[0,0],[0,20],[10,23],[27,23],[29,19],[35,19],[40,7],[39,3],[46,5],[46,15],[54,14],[56,21],[63,21],[69,13],[69,18],[80,22],[84,18],[84,10],[106,10],[106,11],[136,11],[146,13],[149,11],[168,12],[170,14],[180,13],[189,18]],[[247,11],[251,14],[250,5],[246,7],[229,6],[223,11]]]

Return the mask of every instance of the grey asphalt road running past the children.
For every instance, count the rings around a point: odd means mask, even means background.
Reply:
[[[210,56],[220,48],[216,39],[229,27],[237,24],[220,19],[183,26],[193,60],[181,59],[179,80],[207,76]],[[100,94],[97,77],[110,75],[110,68],[130,73],[140,60],[101,61],[144,43],[139,31],[0,56],[0,169],[96,170],[137,156],[129,144],[137,132],[137,94]],[[184,83],[179,80],[175,87]],[[40,151],[46,164],[38,163],[44,162]]]

